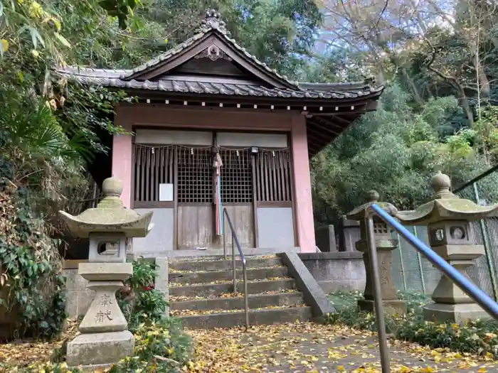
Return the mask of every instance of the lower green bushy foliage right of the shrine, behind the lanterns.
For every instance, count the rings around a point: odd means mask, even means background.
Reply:
[[[493,125],[489,136],[484,134],[479,126],[492,121],[483,119],[473,129],[445,134],[441,127],[458,112],[454,97],[433,98],[414,109],[400,85],[387,87],[377,112],[366,114],[312,160],[317,221],[334,222],[364,203],[371,189],[400,209],[412,209],[430,197],[435,171],[450,175],[453,185],[486,171],[490,163],[477,148],[477,139],[493,141],[497,130]],[[496,151],[494,144],[492,149]],[[494,186],[497,178],[488,177],[482,188]],[[497,200],[497,192],[487,188],[487,198]]]

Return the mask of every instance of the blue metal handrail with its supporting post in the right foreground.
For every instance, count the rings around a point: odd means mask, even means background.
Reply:
[[[470,296],[479,306],[482,307],[493,318],[498,319],[498,303],[496,303],[484,291],[478,288],[472,281],[463,276],[455,267],[449,264],[445,259],[436,254],[433,249],[430,249],[414,234],[408,232],[408,229],[403,227],[400,222],[394,219],[382,207],[371,204],[371,214],[366,217],[368,228],[368,252],[370,255],[370,266],[373,280],[373,300],[376,311],[378,345],[381,353],[381,366],[382,373],[390,373],[390,362],[388,357],[387,338],[386,338],[386,325],[384,323],[384,310],[381,295],[381,281],[378,275],[378,262],[377,262],[377,248],[375,243],[375,232],[373,230],[373,213],[378,215],[387,225],[393,227],[398,234],[406,239],[417,252],[423,254],[425,258],[430,261],[437,269],[443,272],[451,281],[453,281],[459,288],[464,291],[467,296]]]

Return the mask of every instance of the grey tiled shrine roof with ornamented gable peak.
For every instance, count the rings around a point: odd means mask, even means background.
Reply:
[[[226,40],[238,53],[270,73],[272,77],[282,82],[280,87],[269,87],[265,83],[237,81],[234,79],[197,77],[185,78],[177,76],[159,77],[158,80],[143,80],[138,75],[149,68],[168,61],[174,55],[181,53],[194,45],[196,41],[208,34],[216,33],[218,37]],[[58,75],[75,79],[85,85],[100,85],[132,90],[153,90],[162,92],[178,92],[187,94],[226,94],[230,96],[249,97],[282,97],[290,99],[354,99],[368,95],[378,96],[383,87],[374,87],[373,81],[356,83],[304,83],[291,82],[287,77],[279,75],[265,63],[261,63],[254,55],[238,45],[230,38],[226,31],[225,23],[221,21],[216,11],[206,12],[206,19],[201,24],[196,34],[162,53],[157,58],[130,70],[96,69],[92,67],[58,67]],[[211,80],[210,80],[211,79]]]

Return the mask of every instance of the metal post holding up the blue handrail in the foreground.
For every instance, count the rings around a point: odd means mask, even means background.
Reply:
[[[381,352],[382,373],[391,373],[389,362],[389,352],[387,349],[386,320],[384,320],[384,308],[382,304],[381,279],[378,275],[377,247],[375,244],[375,231],[373,229],[373,216],[367,218],[367,227],[369,227],[369,244],[367,250],[370,256],[370,270],[373,282],[373,301],[375,305],[375,314],[377,321],[378,347]]]

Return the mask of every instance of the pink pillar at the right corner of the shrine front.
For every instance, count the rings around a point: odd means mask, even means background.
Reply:
[[[306,135],[306,119],[294,115],[292,123],[292,166],[295,184],[295,217],[297,220],[297,239],[301,252],[314,252],[314,222],[311,195],[311,177],[309,175],[309,157]]]

